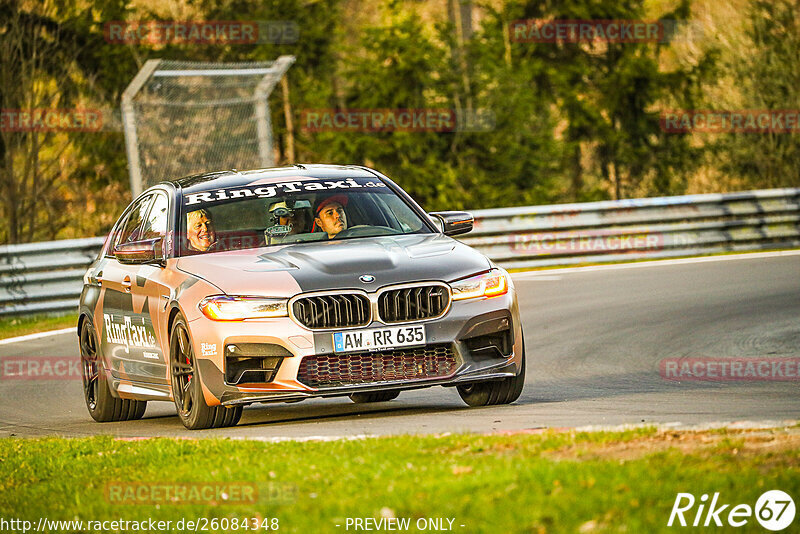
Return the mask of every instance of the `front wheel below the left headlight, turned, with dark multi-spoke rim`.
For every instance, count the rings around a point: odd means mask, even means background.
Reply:
[[[235,426],[242,417],[242,407],[209,406],[196,373],[194,349],[189,328],[182,315],[175,318],[169,339],[170,384],[175,408],[183,426],[189,430]]]

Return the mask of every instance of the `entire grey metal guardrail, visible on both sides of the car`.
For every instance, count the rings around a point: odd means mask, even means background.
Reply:
[[[800,247],[800,188],[473,212],[461,240],[506,268]],[[0,246],[0,316],[75,310],[103,238]]]

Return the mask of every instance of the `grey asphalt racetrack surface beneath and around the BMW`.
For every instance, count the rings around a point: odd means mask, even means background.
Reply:
[[[616,268],[619,267],[619,268]],[[675,381],[665,358],[800,357],[800,255],[721,256],[635,268],[513,275],[527,382],[508,406],[468,408],[453,388],[356,405],[346,397],[245,408],[234,428],[186,430],[171,403],[144,419],[95,423],[80,378],[0,379],[0,436],[308,438],[515,431],[641,423],[800,419],[800,379]],[[0,359],[79,360],[77,336],[0,346]]]

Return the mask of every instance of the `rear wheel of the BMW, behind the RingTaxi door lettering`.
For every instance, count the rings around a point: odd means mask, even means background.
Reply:
[[[98,423],[141,419],[147,409],[147,401],[120,399],[111,394],[103,358],[97,352],[97,334],[88,318],[81,325],[79,342],[83,398],[92,419]]]

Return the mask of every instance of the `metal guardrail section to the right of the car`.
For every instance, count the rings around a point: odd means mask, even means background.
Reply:
[[[506,268],[800,246],[800,188],[473,213],[462,241]]]

